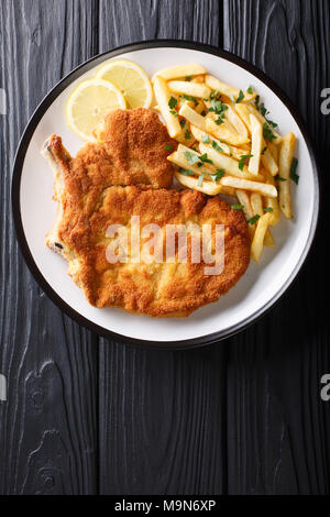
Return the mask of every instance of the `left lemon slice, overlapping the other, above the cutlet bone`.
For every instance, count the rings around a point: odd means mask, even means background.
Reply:
[[[125,99],[111,82],[89,79],[80,82],[66,107],[67,123],[82,140],[95,140],[94,130],[116,109],[125,109]]]

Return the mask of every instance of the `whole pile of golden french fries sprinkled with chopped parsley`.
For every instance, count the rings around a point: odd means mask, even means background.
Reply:
[[[177,180],[209,196],[235,196],[232,208],[245,215],[251,256],[258,262],[263,246],[275,245],[270,227],[278,223],[280,211],[293,217],[295,135],[279,135],[251,87],[233,88],[200,65],[160,70],[152,84],[155,109],[178,142],[168,156]]]

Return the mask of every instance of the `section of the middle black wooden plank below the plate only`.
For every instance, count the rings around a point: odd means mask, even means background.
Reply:
[[[222,493],[223,348],[101,353],[101,493]]]

